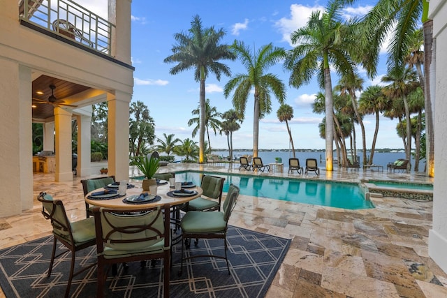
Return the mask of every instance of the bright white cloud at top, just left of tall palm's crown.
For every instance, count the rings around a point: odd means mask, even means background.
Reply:
[[[275,23],[275,26],[279,28],[282,34],[282,40],[287,41],[290,45],[291,43],[291,33],[298,28],[305,27],[307,20],[314,10],[323,11],[323,6],[303,6],[301,4],[291,5],[291,15],[290,18],[282,17]]]

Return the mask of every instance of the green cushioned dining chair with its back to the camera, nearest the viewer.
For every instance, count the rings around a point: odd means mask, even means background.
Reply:
[[[96,297],[103,297],[107,265],[156,259],[163,259],[163,297],[169,297],[169,209],[169,204],[144,209],[135,207],[131,210],[92,209],[98,258]]]

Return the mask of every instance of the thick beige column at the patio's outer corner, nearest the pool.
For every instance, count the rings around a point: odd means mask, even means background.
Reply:
[[[108,174],[129,179],[129,103],[131,94],[108,96]]]

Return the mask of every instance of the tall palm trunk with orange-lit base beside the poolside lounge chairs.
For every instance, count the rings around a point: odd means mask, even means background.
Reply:
[[[327,55],[325,57],[327,60]],[[328,61],[326,61],[328,62]],[[326,64],[325,62],[325,64]],[[325,91],[325,113],[326,113],[326,126],[325,126],[325,141],[326,141],[326,171],[334,170],[333,165],[333,148],[334,148],[334,105],[332,102],[332,82],[330,80],[329,67],[324,68],[324,91]]]

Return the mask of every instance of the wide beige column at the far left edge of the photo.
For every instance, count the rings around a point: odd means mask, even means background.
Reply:
[[[0,218],[33,207],[31,69],[0,58]]]

